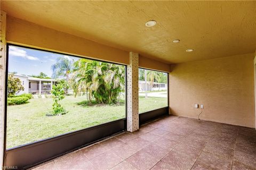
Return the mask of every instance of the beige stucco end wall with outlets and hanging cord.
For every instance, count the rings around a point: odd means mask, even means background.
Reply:
[[[172,66],[170,111],[202,120],[255,128],[254,54],[187,62]]]

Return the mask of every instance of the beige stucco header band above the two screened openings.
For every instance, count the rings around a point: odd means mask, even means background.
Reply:
[[[37,25],[12,16],[7,16],[6,40],[8,43],[17,45],[25,45],[82,57],[86,56],[103,61],[129,64],[129,52],[95,43],[65,32],[46,28],[42,25]],[[150,59],[146,57],[141,57],[140,63],[142,67],[148,69],[165,72],[170,71],[169,64],[158,61],[150,62]]]

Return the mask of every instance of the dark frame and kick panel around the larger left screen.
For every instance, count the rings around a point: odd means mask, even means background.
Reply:
[[[9,65],[9,46],[34,49],[34,50],[39,50],[42,52],[49,52],[49,53],[54,53],[54,54],[69,55],[69,56],[73,56],[73,57],[85,58],[88,60],[94,60],[94,61],[98,61],[98,62],[106,62],[106,63],[118,64],[118,65],[125,66],[125,105],[124,105],[125,106],[125,117],[121,118],[119,120],[110,121],[110,122],[102,123],[99,125],[91,126],[89,128],[84,128],[84,129],[80,129],[80,130],[76,130],[76,131],[63,133],[63,134],[60,134],[60,135],[57,135],[54,137],[50,137],[50,138],[38,140],[35,142],[26,143],[21,146],[6,149],[7,81],[8,81],[8,65]],[[108,138],[111,135],[115,135],[117,133],[122,133],[123,131],[126,131],[126,128],[127,128],[127,65],[125,65],[125,64],[103,61],[103,60],[98,60],[98,59],[94,59],[94,58],[90,58],[90,57],[82,57],[82,56],[73,55],[73,54],[59,53],[59,52],[54,52],[51,50],[34,48],[34,47],[25,46],[25,45],[17,45],[17,44],[13,44],[13,43],[7,43],[6,44],[6,68],[5,68],[5,89],[4,90],[5,90],[4,166],[18,166],[18,169],[29,168],[31,166],[41,164],[47,160],[54,159],[55,157],[58,157],[60,155],[66,154],[66,152],[70,152],[73,150],[77,150],[81,147],[91,145],[92,143],[95,143],[97,141]],[[106,128],[109,128],[108,131],[106,131]],[[99,131],[103,132],[103,133],[97,134]],[[63,148],[63,147],[65,147],[65,143],[59,143],[59,145],[60,145],[59,148],[55,148],[55,146],[54,146],[54,145],[56,145],[56,142],[58,143],[58,141],[63,141],[63,139],[64,140],[67,139],[66,141],[68,141],[69,138],[74,138],[74,137],[79,138],[79,137],[81,137],[81,135],[83,136],[86,133],[88,133],[90,135],[90,137],[89,137],[90,139],[86,138],[86,140],[84,140],[84,143],[81,143],[81,142],[74,143],[73,144],[74,147],[69,147],[68,149]],[[44,152],[44,147],[42,147],[42,145],[45,145],[45,143],[48,143],[47,147],[50,148],[49,149],[50,153],[47,153],[46,156],[41,156],[41,157],[40,156],[39,157],[31,156],[32,155],[32,154],[30,154],[31,152],[35,152],[35,151]],[[53,145],[51,146],[51,145],[49,145],[49,143],[53,143]],[[38,146],[41,146],[41,147],[38,147]],[[63,146],[63,147],[61,147],[61,146]],[[39,148],[39,150],[36,150],[37,148]],[[21,156],[21,155],[23,155],[23,156]]]

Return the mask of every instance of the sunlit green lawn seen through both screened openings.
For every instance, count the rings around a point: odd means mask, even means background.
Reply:
[[[66,96],[61,101],[67,114],[46,116],[52,98],[33,98],[23,105],[7,106],[6,148],[55,137],[125,117],[125,104],[88,106],[86,97]],[[139,97],[139,112],[167,106],[167,98]]]

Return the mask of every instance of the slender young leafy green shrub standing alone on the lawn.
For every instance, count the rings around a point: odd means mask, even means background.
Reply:
[[[53,104],[52,104],[52,115],[63,115],[67,112],[65,109],[59,104],[59,101],[65,98],[65,90],[62,84],[57,84],[57,86],[52,86],[52,97],[53,97]]]

